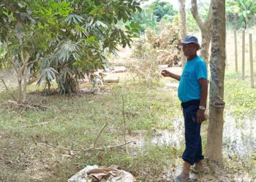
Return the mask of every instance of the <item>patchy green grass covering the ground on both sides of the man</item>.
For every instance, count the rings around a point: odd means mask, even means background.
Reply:
[[[246,80],[242,82],[241,74],[233,71],[233,50],[228,53],[225,76],[226,115],[239,121],[247,117],[255,119],[256,92],[250,88],[248,64]],[[120,84],[106,84],[98,94],[73,96],[45,96],[41,92],[42,88],[29,87],[29,100],[50,109],[29,110],[22,116],[4,104],[10,95],[2,91],[0,181],[67,181],[86,165],[113,164],[131,172],[138,181],[171,181],[182,165],[184,143],[178,148],[152,143],[151,138],[161,134],[162,130],[173,132],[174,122],[182,120],[176,88],[165,87],[164,83],[170,80],[166,78],[150,86],[129,82],[127,78],[120,80]],[[125,147],[105,151],[74,151],[74,154],[70,154],[69,151],[40,142],[67,149],[87,149],[92,146],[105,123],[108,123],[97,141],[97,147],[124,143],[122,95],[127,141],[138,141],[136,145],[129,144],[128,154]],[[203,128],[207,126],[208,123],[204,122]],[[202,136],[205,148],[207,132],[203,132]],[[249,174],[255,180],[255,159],[255,154],[249,154],[244,159],[225,155],[222,176],[214,175],[214,165],[207,160],[206,165],[210,168],[211,178],[216,181],[220,177],[231,179],[234,174]],[[202,175],[198,181],[207,181],[207,178]]]

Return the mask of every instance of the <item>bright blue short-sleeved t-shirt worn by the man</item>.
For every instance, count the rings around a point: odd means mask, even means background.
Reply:
[[[206,63],[199,56],[187,61],[178,85],[178,98],[181,103],[189,100],[200,100],[199,79],[207,79]]]

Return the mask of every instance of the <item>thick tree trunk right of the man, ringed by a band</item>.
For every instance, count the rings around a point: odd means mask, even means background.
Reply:
[[[222,161],[223,111],[225,103],[225,0],[213,1],[213,28],[211,41],[211,82],[210,112],[206,156],[217,162]]]

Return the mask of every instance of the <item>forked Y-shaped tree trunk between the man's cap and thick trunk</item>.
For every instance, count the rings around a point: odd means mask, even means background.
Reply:
[[[212,4],[213,4],[213,0],[211,0],[207,18],[203,22],[197,10],[197,0],[191,0],[191,12],[202,34],[200,56],[203,58],[203,60],[206,61],[206,63],[208,63],[208,57],[209,57],[208,51],[209,51],[209,46],[211,42],[211,26],[212,26],[212,17],[213,17]]]

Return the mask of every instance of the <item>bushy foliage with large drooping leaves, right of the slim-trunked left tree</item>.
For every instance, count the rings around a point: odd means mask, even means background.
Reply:
[[[49,59],[44,60],[50,63],[42,64],[41,73],[50,71],[48,66],[52,67],[57,73],[55,77],[60,93],[75,92],[78,86],[76,80],[104,68],[108,53],[116,51],[118,44],[130,46],[129,42],[140,26],[129,23],[125,29],[121,29],[116,24],[130,20],[132,12],[140,9],[138,5],[136,1],[118,1],[118,4],[114,4],[114,1],[75,1],[70,4],[72,13],[63,15],[64,19],[55,16],[61,25],[53,47],[55,51]],[[48,9],[52,7],[56,7],[56,3],[49,4]],[[44,10],[45,7],[42,12]],[[62,13],[57,12],[57,15]],[[51,74],[44,75],[49,87],[52,79],[48,75]],[[40,82],[43,77],[40,77]]]

